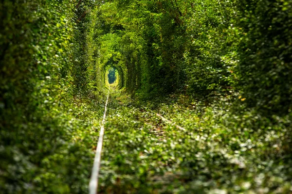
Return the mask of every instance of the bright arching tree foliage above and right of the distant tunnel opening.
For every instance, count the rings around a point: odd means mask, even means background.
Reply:
[[[183,30],[179,21],[173,22],[177,14],[164,11],[172,5],[165,1],[161,6],[157,9],[151,1],[113,1],[101,8],[103,37],[114,37],[101,49],[116,55],[115,60],[126,69],[127,91],[139,91],[140,97],[174,91],[182,82],[182,68],[176,64],[183,56]],[[113,44],[114,48],[107,49]]]

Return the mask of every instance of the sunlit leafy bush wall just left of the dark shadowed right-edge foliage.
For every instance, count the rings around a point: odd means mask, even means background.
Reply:
[[[189,38],[184,52],[187,91],[196,97],[225,92],[235,81],[236,29],[232,1],[198,1],[189,4],[184,17]]]

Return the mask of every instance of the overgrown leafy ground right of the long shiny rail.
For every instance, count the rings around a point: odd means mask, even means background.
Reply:
[[[139,104],[112,90],[100,193],[290,193],[289,163],[274,160],[279,147],[266,148],[278,133],[262,139],[228,112],[183,96]]]

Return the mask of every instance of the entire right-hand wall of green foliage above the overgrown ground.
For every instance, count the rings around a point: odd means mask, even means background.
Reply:
[[[101,8],[126,88],[198,98],[240,90],[250,107],[291,109],[288,1],[110,1]],[[107,35],[105,35],[107,36]],[[107,51],[109,51],[107,49]]]

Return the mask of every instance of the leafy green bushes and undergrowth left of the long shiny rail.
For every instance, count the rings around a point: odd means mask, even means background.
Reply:
[[[87,192],[91,134],[102,107],[76,97],[82,88],[72,75],[74,6],[71,0],[0,3],[2,193]]]

